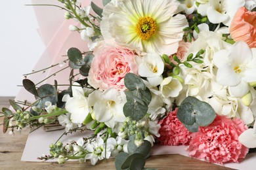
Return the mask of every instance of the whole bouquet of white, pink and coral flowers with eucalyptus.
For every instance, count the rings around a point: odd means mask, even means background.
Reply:
[[[221,164],[256,147],[255,0],[58,1],[85,41],[56,64],[68,65],[69,83],[26,77],[35,101],[1,112],[12,135],[51,124],[85,134],[56,141],[40,160],[115,158],[116,169],[144,169],[154,144],[187,145],[189,156]]]

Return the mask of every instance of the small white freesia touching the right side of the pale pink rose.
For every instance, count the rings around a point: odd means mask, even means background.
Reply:
[[[148,78],[152,86],[158,86],[163,80],[164,63],[159,54],[147,54],[143,57],[142,63],[139,64],[138,73],[140,76]]]

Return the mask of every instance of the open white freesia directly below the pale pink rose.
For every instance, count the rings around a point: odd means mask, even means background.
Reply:
[[[123,105],[126,103],[124,92],[114,88],[104,92],[95,90],[89,95],[89,106],[93,107],[92,117],[106,126],[114,128],[117,122],[124,122]]]

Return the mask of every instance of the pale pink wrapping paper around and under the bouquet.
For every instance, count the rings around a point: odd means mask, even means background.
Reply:
[[[61,5],[55,1],[33,1],[34,4],[56,4]],[[86,1],[89,4],[89,1]],[[100,0],[96,1],[96,4],[100,5]],[[68,26],[70,24],[77,24],[72,20],[65,20],[63,15],[64,11],[56,11],[54,7],[34,7],[35,15],[37,16],[37,20],[39,22],[39,35],[41,35],[42,41],[47,46],[45,52],[43,52],[41,58],[37,62],[34,67],[34,70],[37,71],[39,69],[43,69],[45,67],[49,67],[49,65],[53,65],[55,63],[60,63],[66,57],[63,55],[66,54],[66,50],[71,47],[79,48],[80,50],[88,50],[87,43],[80,39],[80,35],[77,32],[71,32],[68,30]],[[47,12],[45,12],[47,11]],[[54,17],[53,17],[54,16]],[[47,19],[46,19],[47,18]],[[45,77],[55,73],[56,71],[64,68],[63,67],[54,67],[53,69],[49,69],[46,73],[37,73],[34,75],[28,76],[30,80],[37,83],[43,80]],[[70,73],[69,69],[58,73],[58,75],[53,76],[43,83],[53,84],[54,80],[58,81],[58,84],[67,84],[68,76]],[[23,101],[27,99],[28,101],[34,101],[33,95],[26,90],[22,89],[16,96],[16,101]],[[62,135],[63,131],[52,131],[45,132],[43,129],[38,129],[33,133],[30,133],[28,136],[28,141],[26,142],[26,146],[24,148],[24,153],[22,155],[22,161],[39,161],[37,157],[42,156],[43,154],[49,154],[49,144],[55,143],[58,137]],[[72,135],[67,135],[62,137],[62,142],[66,143],[68,140],[77,140],[79,137],[85,137],[85,134],[74,133]],[[40,143],[40,147],[37,147],[37,143]],[[186,146],[154,146],[152,149],[152,155],[161,155],[161,154],[182,154],[187,156],[186,154]],[[252,169],[255,167],[256,161],[256,153],[248,154],[246,159],[242,161],[242,163],[225,163],[224,166],[231,167],[234,169]]]

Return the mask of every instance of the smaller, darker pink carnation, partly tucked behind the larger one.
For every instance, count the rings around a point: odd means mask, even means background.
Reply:
[[[158,138],[160,144],[165,145],[188,145],[190,143],[190,134],[191,132],[184,127],[181,121],[177,118],[176,108],[172,112],[169,112],[163,120],[160,120],[160,137]]]

